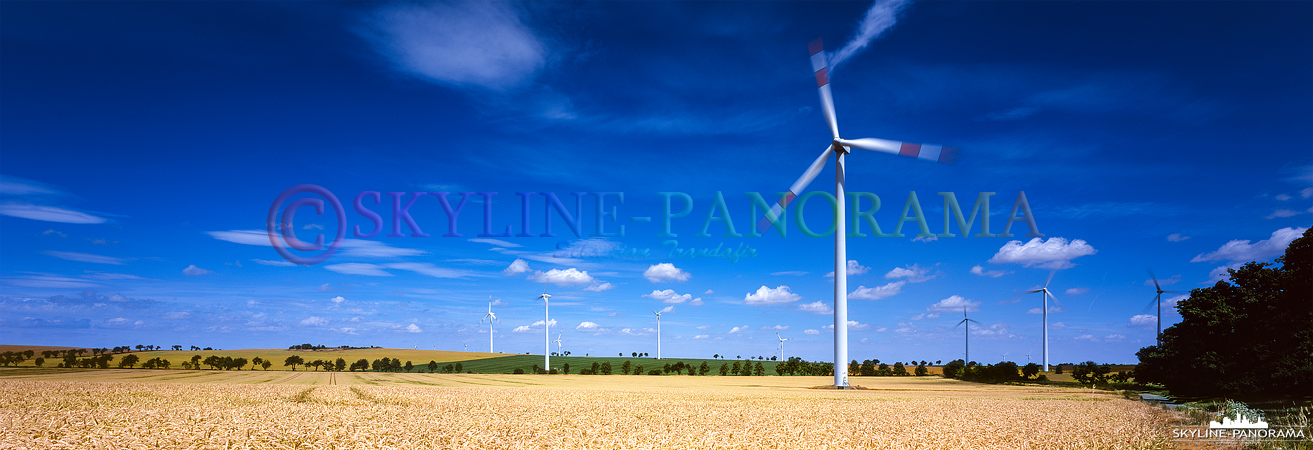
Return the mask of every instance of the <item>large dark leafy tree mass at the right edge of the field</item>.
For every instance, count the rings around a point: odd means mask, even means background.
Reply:
[[[1184,396],[1288,399],[1313,392],[1313,228],[1276,265],[1228,269],[1229,282],[1176,303],[1182,321],[1140,349],[1136,380]]]

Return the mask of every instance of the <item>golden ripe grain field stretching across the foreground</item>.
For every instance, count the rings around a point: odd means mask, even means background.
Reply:
[[[0,378],[0,449],[1171,447],[1165,412],[1107,392],[830,382],[28,369]]]

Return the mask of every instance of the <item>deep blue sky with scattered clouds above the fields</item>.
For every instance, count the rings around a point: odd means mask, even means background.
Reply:
[[[829,144],[807,42],[831,59],[844,138],[961,147],[956,165],[856,150],[848,192],[889,232],[915,192],[1024,192],[1040,240],[848,239],[850,357],[1133,362],[1165,289],[1271,261],[1313,218],[1309,3],[4,3],[0,5],[0,341],[280,348],[299,342],[830,361],[832,237],[739,234],[744,193],[776,199]],[[868,10],[873,10],[868,14]],[[892,25],[892,26],[890,26]],[[850,50],[840,50],[844,47]],[[347,237],[295,265],[265,215],[302,184],[344,205]],[[807,192],[834,190],[829,164]],[[383,232],[357,214],[357,194]],[[436,195],[389,237],[387,193]],[[580,235],[529,194],[554,193]],[[596,193],[607,232],[593,236]],[[662,194],[692,213],[662,236]],[[295,195],[297,198],[306,194]],[[681,209],[675,198],[674,210]],[[618,205],[617,205],[618,203]],[[797,202],[793,203],[797,206]],[[804,218],[830,226],[813,197]],[[869,209],[869,202],[863,203]],[[850,203],[850,211],[853,206]],[[334,240],[335,211],[295,234]],[[969,213],[969,211],[968,211]],[[634,222],[647,216],[651,222]],[[978,219],[979,220],[979,219]],[[972,234],[979,232],[979,222]],[[676,241],[671,244],[668,241]],[[672,256],[751,248],[751,257]],[[646,256],[634,252],[647,251]],[[628,252],[628,253],[626,253]],[[613,257],[616,255],[621,257]],[[302,253],[305,256],[314,252]],[[612,257],[599,257],[609,255]],[[1179,297],[1169,297],[1175,302]],[[1179,316],[1165,308],[1163,323]],[[536,323],[538,321],[538,323]],[[553,348],[555,350],[555,348]]]

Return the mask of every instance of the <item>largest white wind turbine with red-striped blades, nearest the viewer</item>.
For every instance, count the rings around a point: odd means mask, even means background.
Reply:
[[[876,152],[885,152],[890,155],[902,155],[915,159],[922,159],[927,161],[948,163],[952,164],[957,160],[957,148],[944,147],[936,144],[916,144],[910,142],[898,142],[888,139],[843,139],[839,138],[839,123],[835,121],[834,114],[834,97],[830,94],[830,70],[826,62],[825,47],[821,45],[821,39],[811,41],[807,45],[807,50],[811,54],[811,71],[817,79],[817,88],[821,93],[821,112],[825,113],[826,125],[830,126],[831,140],[826,146],[821,156],[817,156],[811,165],[807,167],[806,172],[789,186],[789,193],[785,194],[780,201],[771,207],[771,213],[758,222],[758,232],[769,228],[773,222],[771,218],[779,220],[780,213],[793,202],[798,194],[811,184],[811,180],[821,173],[825,168],[826,161],[830,160],[830,155],[835,155],[835,186],[834,198],[838,198],[835,203],[835,231],[834,231],[834,386],[839,388],[846,388],[848,386],[848,255],[847,255],[847,241],[846,236],[848,211],[846,203],[846,190],[844,190],[844,156],[852,148],[869,150]]]

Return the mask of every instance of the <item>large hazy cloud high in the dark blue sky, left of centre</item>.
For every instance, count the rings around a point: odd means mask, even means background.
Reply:
[[[437,84],[508,89],[546,64],[542,42],[506,3],[387,4],[357,31],[395,70]]]

